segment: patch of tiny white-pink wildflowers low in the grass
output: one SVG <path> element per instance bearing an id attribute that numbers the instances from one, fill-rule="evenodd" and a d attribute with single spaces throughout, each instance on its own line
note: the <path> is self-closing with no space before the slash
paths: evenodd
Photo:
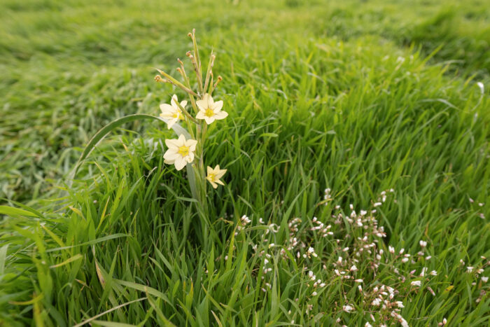
<path id="1" fill-rule="evenodd" d="M 335 285 L 341 293 L 334 307 L 335 321 L 339 325 L 349 324 L 349 316 L 357 313 L 363 314 L 365 326 L 390 326 L 393 323 L 409 326 L 402 312 L 405 301 L 412 293 L 426 291 L 435 295 L 440 283 L 435 281 L 437 271 L 429 269 L 428 248 L 431 246 L 428 240 L 417 241 L 419 251 L 414 255 L 382 241 L 386 232 L 379 225 L 377 211 L 393 194 L 393 189 L 385 190 L 369 208 L 356 210 L 349 204 L 344 211 L 339 205 L 327 205 L 335 200 L 331 190 L 327 189 L 319 202 L 325 204 L 327 200 L 322 206 L 323 212 L 318 214 L 324 218 L 291 218 L 287 224 L 288 236 L 281 244 L 276 243 L 277 225 L 267 224 L 262 218 L 255 220 L 242 216 L 235 235 L 260 231 L 252 244 L 254 256 L 260 258 L 260 268 L 256 270 L 257 286 L 263 293 L 268 293 L 279 274 L 272 261 L 293 260 L 302 276 L 301 288 L 307 297 L 304 311 L 309 318 L 313 319 L 315 307 L 317 311 L 322 310 L 322 298 L 331 293 Z M 253 228 L 253 223 L 265 228 Z M 486 264 L 467 270 L 482 274 L 484 267 Z M 486 277 L 481 278 L 482 283 L 486 280 Z M 295 316 L 291 315 L 290 319 Z"/>

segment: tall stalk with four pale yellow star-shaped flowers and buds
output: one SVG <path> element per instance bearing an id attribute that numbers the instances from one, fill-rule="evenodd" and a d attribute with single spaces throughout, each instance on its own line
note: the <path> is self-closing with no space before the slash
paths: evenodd
<path id="1" fill-rule="evenodd" d="M 165 140 L 168 149 L 163 157 L 167 165 L 174 165 L 177 170 L 188 165 L 188 172 L 197 176 L 193 195 L 197 197 L 197 200 L 203 202 L 206 195 L 205 181 L 209 181 L 213 188 L 217 188 L 218 184 L 224 185 L 221 178 L 227 170 L 216 165 L 214 168 L 208 166 L 207 171 L 204 171 L 204 142 L 207 128 L 216 120 L 225 119 L 228 113 L 223 111 L 223 100 L 215 101 L 212 97 L 216 86 L 223 79 L 218 76 L 216 82 L 214 81 L 213 67 L 216 56 L 211 51 L 207 72 L 203 76 L 195 30 L 188 36 L 193 41 L 193 50 L 188 51 L 186 55 L 193 66 L 197 90 L 193 90 L 193 85 L 190 83 L 190 78 L 181 60 L 178 60 L 180 67 L 177 68 L 177 71 L 181 74 L 183 83 L 160 69 L 157 69 L 160 75 L 155 76 L 155 81 L 175 85 L 188 95 L 188 100 L 179 102 L 177 95 L 173 95 L 170 104 L 160 104 L 162 111 L 160 118 L 167 123 L 169 129 L 174 129 L 179 135 L 178 139 Z M 183 129 L 179 123 L 186 123 L 187 130 Z M 193 188 L 192 185 L 191 188 Z"/>

